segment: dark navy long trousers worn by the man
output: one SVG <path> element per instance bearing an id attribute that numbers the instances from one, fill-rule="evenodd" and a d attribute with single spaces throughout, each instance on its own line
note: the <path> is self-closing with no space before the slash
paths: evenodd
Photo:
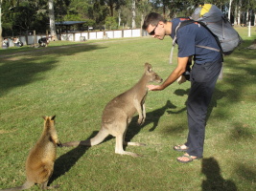
<path id="1" fill-rule="evenodd" d="M 186 146 L 191 156 L 202 158 L 205 138 L 207 109 L 218 76 L 221 73 L 221 60 L 215 63 L 195 63 L 191 71 L 191 89 L 187 101 L 189 134 Z"/>

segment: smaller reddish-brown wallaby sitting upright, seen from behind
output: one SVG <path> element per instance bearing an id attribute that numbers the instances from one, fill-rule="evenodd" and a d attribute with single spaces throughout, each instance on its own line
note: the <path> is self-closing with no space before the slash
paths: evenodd
<path id="1" fill-rule="evenodd" d="M 27 181 L 21 186 L 1 191 L 24 190 L 32 187 L 35 183 L 41 184 L 42 189 L 57 187 L 47 186 L 47 183 L 54 171 L 57 146 L 61 146 L 61 143 L 55 129 L 55 116 L 43 118 L 43 133 L 35 143 L 26 161 Z"/>

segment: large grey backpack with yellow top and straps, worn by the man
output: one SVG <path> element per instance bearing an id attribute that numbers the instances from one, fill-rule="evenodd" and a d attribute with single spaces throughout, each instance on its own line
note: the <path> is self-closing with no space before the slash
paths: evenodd
<path id="1" fill-rule="evenodd" d="M 180 22 L 175 28 L 175 38 L 173 40 L 173 48 L 170 55 L 171 64 L 175 47 L 176 32 L 181 27 L 195 22 L 203 26 L 208 32 L 212 33 L 220 47 L 220 50 L 196 45 L 198 47 L 221 52 L 223 55 L 228 55 L 243 42 L 243 39 L 239 33 L 233 29 L 224 13 L 215 5 L 202 4 L 194 11 L 190 18 L 183 18 L 182 20 L 184 21 Z"/>

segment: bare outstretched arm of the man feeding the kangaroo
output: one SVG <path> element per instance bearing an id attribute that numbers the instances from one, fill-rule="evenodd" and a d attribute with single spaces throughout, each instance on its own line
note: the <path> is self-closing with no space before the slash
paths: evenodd
<path id="1" fill-rule="evenodd" d="M 186 71 L 186 66 L 188 63 L 189 57 L 178 57 L 177 58 L 177 67 L 172 74 L 161 84 L 161 85 L 148 85 L 149 90 L 151 91 L 161 91 L 166 87 L 175 82 L 175 80 Z"/>

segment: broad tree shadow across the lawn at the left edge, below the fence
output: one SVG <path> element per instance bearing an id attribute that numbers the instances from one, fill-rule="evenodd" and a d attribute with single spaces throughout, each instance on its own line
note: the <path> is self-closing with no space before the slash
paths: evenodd
<path id="1" fill-rule="evenodd" d="M 97 45 L 78 46 L 70 49 L 44 49 L 43 53 L 38 50 L 26 52 L 26 56 L 13 55 L 9 57 L 0 56 L 0 96 L 4 96 L 13 88 L 21 87 L 34 81 L 42 80 L 36 74 L 46 73 L 56 68 L 58 57 L 75 53 L 89 52 L 96 49 L 104 49 Z M 43 75 L 42 75 L 43 76 Z"/>

